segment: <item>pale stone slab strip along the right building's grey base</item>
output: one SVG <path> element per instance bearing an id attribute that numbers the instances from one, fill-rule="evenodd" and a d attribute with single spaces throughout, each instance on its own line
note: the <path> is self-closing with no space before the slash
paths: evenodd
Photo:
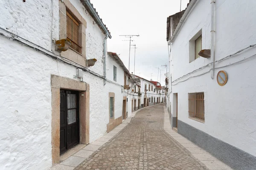
<path id="1" fill-rule="evenodd" d="M 212 156 L 210 153 L 208 153 L 201 147 L 198 147 L 196 144 L 194 144 L 193 142 L 189 141 L 188 139 L 177 133 L 175 128 L 174 130 L 172 130 L 169 120 L 169 113 L 167 112 L 166 107 L 164 107 L 164 117 L 165 119 L 163 129 L 170 136 L 172 136 L 173 139 L 175 139 L 183 147 L 189 150 L 191 155 L 194 156 L 199 161 L 201 161 L 209 170 L 233 170 L 231 167 L 219 161 L 217 158 Z"/>

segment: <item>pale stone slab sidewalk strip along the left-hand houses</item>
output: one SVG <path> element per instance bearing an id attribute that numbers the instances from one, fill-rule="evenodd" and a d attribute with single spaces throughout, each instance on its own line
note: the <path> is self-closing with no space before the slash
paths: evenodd
<path id="1" fill-rule="evenodd" d="M 116 136 L 123 128 L 125 128 L 128 123 L 131 122 L 132 117 L 128 117 L 122 124 L 116 126 L 109 133 L 105 134 L 101 138 L 90 144 L 78 144 L 73 147 L 60 157 L 60 163 L 54 165 L 48 170 L 74 170 L 79 164 L 81 164 L 85 159 L 89 158 L 95 151 L 99 150 L 104 144 L 109 142 Z"/>

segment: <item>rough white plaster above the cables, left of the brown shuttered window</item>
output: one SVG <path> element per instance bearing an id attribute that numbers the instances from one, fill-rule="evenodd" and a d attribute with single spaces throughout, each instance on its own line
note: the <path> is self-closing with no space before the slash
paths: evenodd
<path id="1" fill-rule="evenodd" d="M 58 0 L 53 0 L 53 4 L 52 0 L 26 1 L 25 3 L 22 0 L 1 0 L 0 16 L 1 28 L 47 50 L 51 50 L 51 36 L 53 39 L 58 37 L 58 25 L 55 25 L 55 21 L 58 22 Z M 52 30 L 55 31 L 52 32 Z"/>

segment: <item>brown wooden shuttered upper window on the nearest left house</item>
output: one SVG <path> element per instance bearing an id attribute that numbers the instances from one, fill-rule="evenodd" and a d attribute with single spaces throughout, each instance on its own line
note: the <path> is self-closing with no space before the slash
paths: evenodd
<path id="1" fill-rule="evenodd" d="M 67 38 L 71 41 L 70 48 L 81 54 L 79 45 L 79 23 L 67 12 Z"/>

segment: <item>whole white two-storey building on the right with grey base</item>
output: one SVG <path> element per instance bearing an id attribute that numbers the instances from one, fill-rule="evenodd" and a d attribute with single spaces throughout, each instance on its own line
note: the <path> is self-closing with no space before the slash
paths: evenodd
<path id="1" fill-rule="evenodd" d="M 234 170 L 256 170 L 255 7 L 190 0 L 167 19 L 172 126 Z"/>

